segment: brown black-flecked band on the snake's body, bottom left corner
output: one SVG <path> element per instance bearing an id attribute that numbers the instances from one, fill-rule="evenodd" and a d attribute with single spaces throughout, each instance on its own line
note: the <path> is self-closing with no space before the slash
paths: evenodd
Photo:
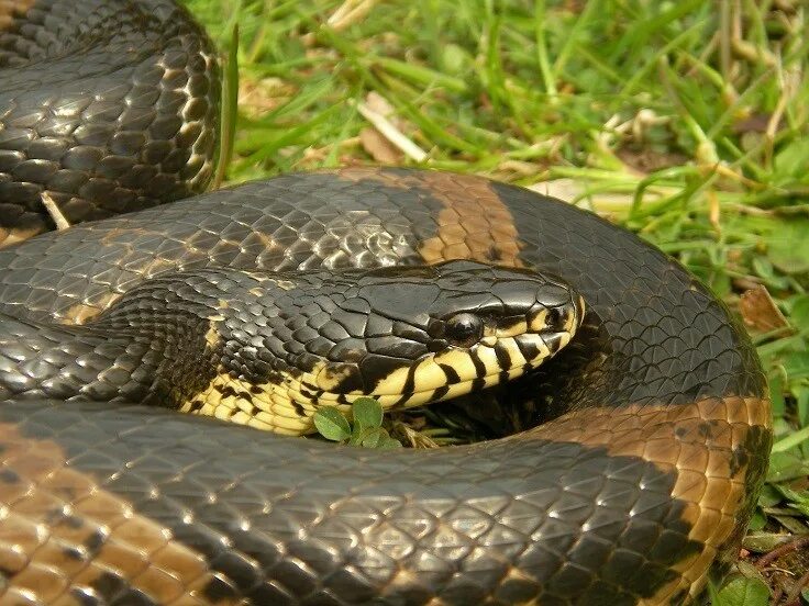
<path id="1" fill-rule="evenodd" d="M 55 441 L 3 423 L 0 450 L 0 603 L 236 603 L 200 553 L 71 468 Z"/>

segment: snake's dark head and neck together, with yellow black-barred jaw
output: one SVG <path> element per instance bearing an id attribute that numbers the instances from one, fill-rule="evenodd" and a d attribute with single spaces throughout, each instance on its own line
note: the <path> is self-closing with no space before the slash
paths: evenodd
<path id="1" fill-rule="evenodd" d="M 323 404 L 365 395 L 402 408 L 520 377 L 565 347 L 581 315 L 580 298 L 553 277 L 464 260 L 178 271 L 84 325 L 0 317 L 0 334 L 19 343 L 0 338 L 0 389 L 5 399 L 136 401 L 297 435 L 313 430 Z"/>

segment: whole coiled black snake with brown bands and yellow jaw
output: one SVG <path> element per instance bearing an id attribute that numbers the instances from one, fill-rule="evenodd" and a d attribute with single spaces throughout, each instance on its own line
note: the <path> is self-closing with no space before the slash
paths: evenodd
<path id="1" fill-rule="evenodd" d="M 171 0 L 0 0 L 0 603 L 685 604 L 735 561 L 765 375 L 657 248 L 433 170 L 202 193 L 219 67 Z M 263 430 L 481 389 L 543 423 Z"/>

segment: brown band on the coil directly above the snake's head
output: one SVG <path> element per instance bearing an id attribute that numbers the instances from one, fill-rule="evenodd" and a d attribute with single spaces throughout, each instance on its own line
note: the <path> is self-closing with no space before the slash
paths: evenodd
<path id="1" fill-rule="evenodd" d="M 479 177 L 458 178 L 452 172 L 379 171 L 376 168 L 346 168 L 341 179 L 378 181 L 386 187 L 425 191 L 444 207 L 437 213 L 437 233 L 419 246 L 428 263 L 447 259 L 474 259 L 506 267 L 523 267 L 520 238 L 509 209 L 492 191 L 491 181 Z"/>

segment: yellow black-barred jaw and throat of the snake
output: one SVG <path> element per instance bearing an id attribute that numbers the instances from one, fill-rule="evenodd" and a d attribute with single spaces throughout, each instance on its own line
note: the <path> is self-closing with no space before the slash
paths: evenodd
<path id="1" fill-rule="evenodd" d="M 363 396 L 376 399 L 386 409 L 450 400 L 538 368 L 569 343 L 581 314 L 580 298 L 570 294 L 563 304 L 534 304 L 522 316 L 489 319 L 477 343 L 462 347 L 444 341 L 437 351 L 400 360 L 369 389 L 357 389 L 363 385 L 358 364 L 329 360 L 319 360 L 306 371 L 280 371 L 258 384 L 220 373 L 197 397 L 204 402 L 198 412 L 300 435 L 314 431 L 313 416 L 322 405 L 348 413 L 351 403 Z"/>

